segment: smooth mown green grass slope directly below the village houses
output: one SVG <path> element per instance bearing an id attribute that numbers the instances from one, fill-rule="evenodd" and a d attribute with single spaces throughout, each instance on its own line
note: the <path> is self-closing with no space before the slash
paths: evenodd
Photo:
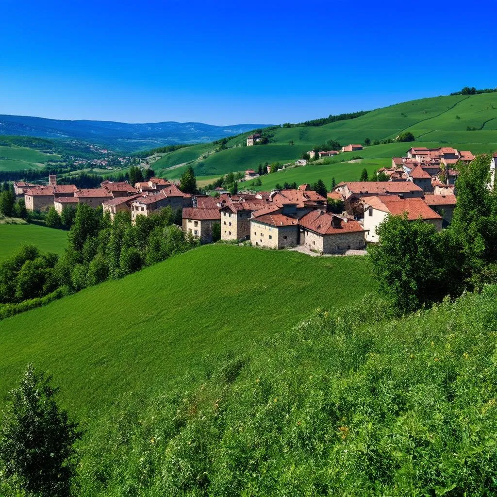
<path id="1" fill-rule="evenodd" d="M 362 257 L 197 248 L 2 321 L 0 399 L 33 362 L 72 413 L 91 418 L 124 392 L 161 393 L 205 360 L 374 289 Z"/>

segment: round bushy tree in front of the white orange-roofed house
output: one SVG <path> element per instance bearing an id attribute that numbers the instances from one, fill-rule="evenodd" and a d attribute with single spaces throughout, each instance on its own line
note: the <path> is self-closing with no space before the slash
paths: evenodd
<path id="1" fill-rule="evenodd" d="M 434 225 L 388 215 L 377 234 L 379 243 L 368 250 L 373 273 L 401 314 L 431 305 L 454 288 L 459 278 L 445 263 L 457 255 Z"/>

